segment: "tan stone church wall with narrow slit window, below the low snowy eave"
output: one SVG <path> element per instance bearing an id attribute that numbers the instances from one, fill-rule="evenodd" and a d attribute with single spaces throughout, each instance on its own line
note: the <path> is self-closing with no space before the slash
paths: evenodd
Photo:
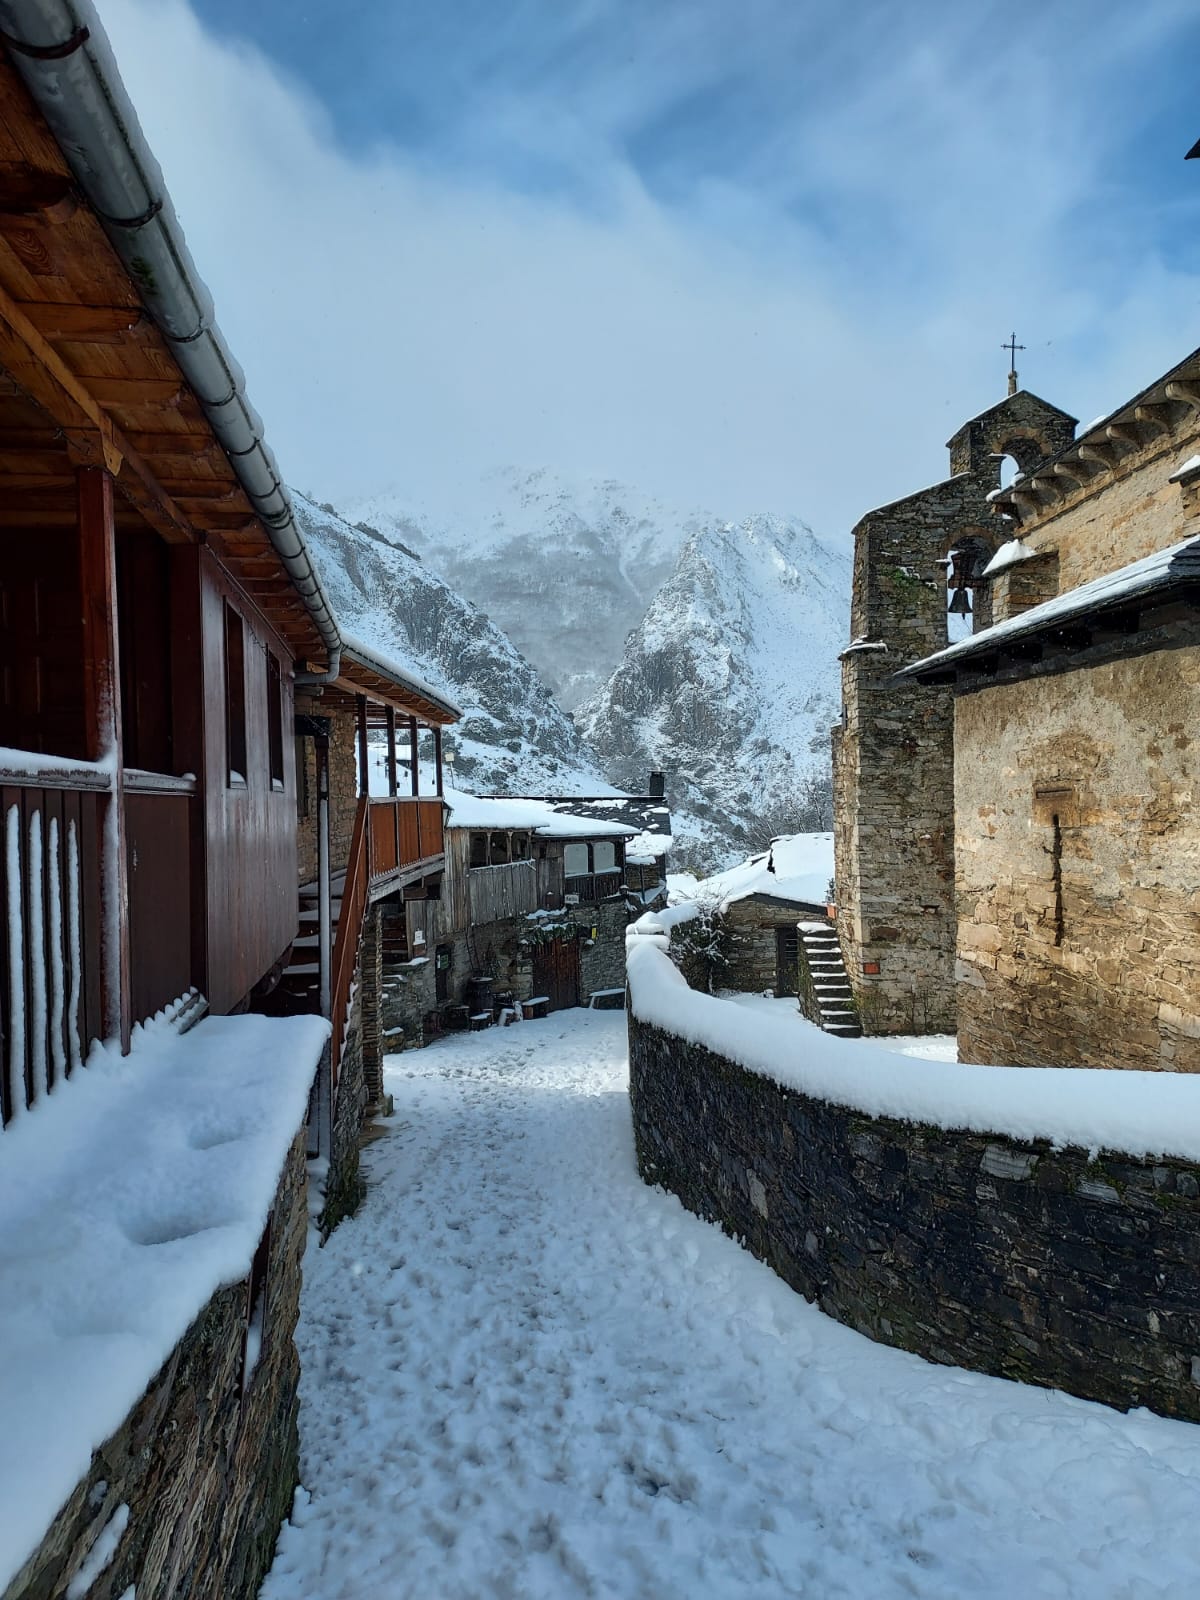
<path id="1" fill-rule="evenodd" d="M 1200 646 L 958 698 L 963 1061 L 1200 1070 L 1197 726 Z"/>

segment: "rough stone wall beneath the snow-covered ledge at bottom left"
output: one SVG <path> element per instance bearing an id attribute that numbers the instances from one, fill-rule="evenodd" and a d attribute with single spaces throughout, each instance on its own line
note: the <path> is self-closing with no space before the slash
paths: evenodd
<path id="1" fill-rule="evenodd" d="M 275 1195 L 262 1352 L 243 1392 L 246 1283 L 219 1290 L 3 1600 L 61 1600 L 122 1506 L 130 1522 L 86 1600 L 253 1600 L 298 1472 L 293 1342 L 307 1234 L 304 1138 Z"/>

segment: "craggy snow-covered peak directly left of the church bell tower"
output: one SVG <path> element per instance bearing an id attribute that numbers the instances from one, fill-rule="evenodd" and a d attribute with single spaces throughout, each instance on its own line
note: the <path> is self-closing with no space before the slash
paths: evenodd
<path id="1" fill-rule="evenodd" d="M 827 781 L 850 555 L 795 520 L 696 531 L 576 712 L 606 774 L 667 774 L 672 866 L 720 866 L 771 834 L 827 826 L 802 811 Z"/>

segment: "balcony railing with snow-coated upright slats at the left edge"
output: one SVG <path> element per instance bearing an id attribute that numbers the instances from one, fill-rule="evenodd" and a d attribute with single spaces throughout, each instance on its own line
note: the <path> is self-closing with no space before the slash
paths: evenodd
<path id="1" fill-rule="evenodd" d="M 69 786 L 67 786 L 69 784 Z M 0 779 L 0 1120 L 104 1032 L 101 837 L 107 778 Z"/>

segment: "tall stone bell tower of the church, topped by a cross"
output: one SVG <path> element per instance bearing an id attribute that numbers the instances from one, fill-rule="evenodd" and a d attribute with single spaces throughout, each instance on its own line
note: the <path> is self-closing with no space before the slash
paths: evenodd
<path id="1" fill-rule="evenodd" d="M 954 702 L 896 682 L 947 643 L 947 560 L 990 622 L 981 576 L 1005 531 L 1000 462 L 1054 454 L 1075 419 L 1016 390 L 949 442 L 950 477 L 854 528 L 851 643 L 834 730 L 838 938 L 867 1032 L 954 1032 Z"/>

